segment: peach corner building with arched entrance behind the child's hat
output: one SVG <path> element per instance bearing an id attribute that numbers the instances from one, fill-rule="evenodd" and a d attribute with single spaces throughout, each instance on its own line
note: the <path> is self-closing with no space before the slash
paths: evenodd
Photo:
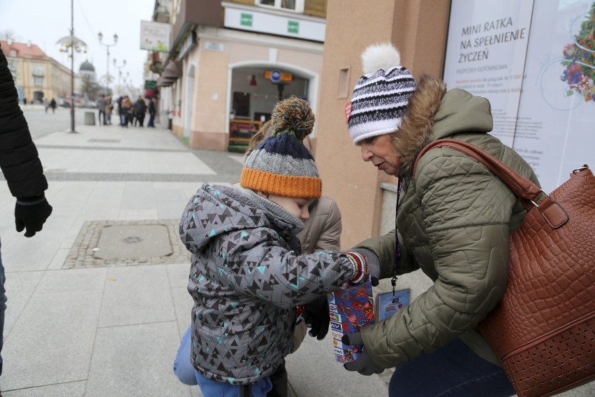
<path id="1" fill-rule="evenodd" d="M 157 80 L 160 109 L 191 147 L 243 147 L 287 96 L 307 99 L 316 112 L 326 1 L 175 0 L 168 6 L 172 34 Z"/>

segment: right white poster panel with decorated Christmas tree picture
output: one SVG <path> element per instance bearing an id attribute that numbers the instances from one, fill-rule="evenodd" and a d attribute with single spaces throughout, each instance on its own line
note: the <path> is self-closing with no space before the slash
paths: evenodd
<path id="1" fill-rule="evenodd" d="M 595 1 L 536 1 L 513 147 L 551 192 L 595 167 Z"/>

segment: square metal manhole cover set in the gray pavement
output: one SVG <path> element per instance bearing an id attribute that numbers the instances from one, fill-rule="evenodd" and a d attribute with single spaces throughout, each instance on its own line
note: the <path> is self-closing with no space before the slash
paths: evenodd
<path id="1" fill-rule="evenodd" d="M 172 254 L 168 228 L 162 224 L 107 226 L 93 256 L 99 259 L 164 257 Z"/>

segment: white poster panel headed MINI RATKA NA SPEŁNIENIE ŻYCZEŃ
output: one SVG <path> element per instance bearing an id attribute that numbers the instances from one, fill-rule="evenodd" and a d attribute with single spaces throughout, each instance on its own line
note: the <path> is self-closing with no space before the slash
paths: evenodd
<path id="1" fill-rule="evenodd" d="M 492 135 L 513 145 L 533 1 L 453 1 L 444 81 L 485 96 Z"/>

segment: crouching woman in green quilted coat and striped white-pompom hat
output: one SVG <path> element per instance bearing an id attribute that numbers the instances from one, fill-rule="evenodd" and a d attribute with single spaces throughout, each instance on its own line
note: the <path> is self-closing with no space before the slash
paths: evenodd
<path id="1" fill-rule="evenodd" d="M 526 178 L 534 171 L 492 131 L 490 102 L 436 78 L 417 82 L 390 44 L 362 54 L 364 75 L 346 106 L 362 159 L 399 178 L 395 230 L 370 238 L 365 252 L 381 278 L 421 269 L 434 284 L 409 307 L 344 338 L 363 343 L 346 363 L 363 375 L 395 368 L 390 396 L 510 396 L 515 391 L 476 326 L 501 301 L 508 235 L 526 211 L 504 182 L 448 147 L 420 151 L 439 138 L 464 140 Z"/>

